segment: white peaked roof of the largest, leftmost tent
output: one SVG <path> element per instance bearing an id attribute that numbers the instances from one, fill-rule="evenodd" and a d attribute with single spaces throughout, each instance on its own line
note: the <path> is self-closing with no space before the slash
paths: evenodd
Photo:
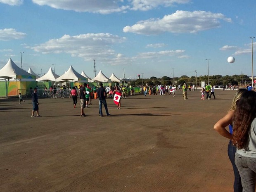
<path id="1" fill-rule="evenodd" d="M 19 68 L 10 58 L 7 64 L 0 69 L 0 77 L 5 79 L 19 78 L 19 79 L 35 79 L 35 76 Z"/>

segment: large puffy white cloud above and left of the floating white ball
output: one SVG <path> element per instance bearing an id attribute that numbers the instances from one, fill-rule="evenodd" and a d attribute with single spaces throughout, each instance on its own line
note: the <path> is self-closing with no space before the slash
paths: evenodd
<path id="1" fill-rule="evenodd" d="M 159 33 L 197 33 L 220 27 L 220 20 L 231 22 L 230 18 L 220 13 L 205 11 L 176 11 L 165 15 L 162 19 L 149 19 L 139 21 L 133 26 L 123 28 L 125 33 L 138 33 L 143 35 L 156 35 Z"/>

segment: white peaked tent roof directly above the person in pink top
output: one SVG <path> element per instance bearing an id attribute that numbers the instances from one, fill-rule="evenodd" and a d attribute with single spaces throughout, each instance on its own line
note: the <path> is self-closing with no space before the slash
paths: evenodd
<path id="1" fill-rule="evenodd" d="M 56 81 L 85 81 L 87 82 L 87 78 L 79 74 L 73 69 L 72 66 L 69 67 L 68 71 L 64 73 L 62 76 L 56 79 Z"/>

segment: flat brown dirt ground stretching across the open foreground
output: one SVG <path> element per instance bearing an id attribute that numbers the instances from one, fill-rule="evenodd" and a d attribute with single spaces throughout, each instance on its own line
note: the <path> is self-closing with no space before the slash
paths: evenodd
<path id="1" fill-rule="evenodd" d="M 213 125 L 235 91 L 215 93 L 108 99 L 108 117 L 98 100 L 81 117 L 69 98 L 40 99 L 33 118 L 31 100 L 2 99 L 0 191 L 232 192 L 229 140 Z"/>

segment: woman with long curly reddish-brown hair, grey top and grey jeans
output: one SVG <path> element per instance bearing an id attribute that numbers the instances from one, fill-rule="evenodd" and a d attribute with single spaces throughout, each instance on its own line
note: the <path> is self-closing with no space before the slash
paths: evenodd
<path id="1" fill-rule="evenodd" d="M 232 142 L 237 146 L 235 164 L 239 170 L 243 192 L 256 187 L 256 92 L 244 92 L 233 115 Z"/>

